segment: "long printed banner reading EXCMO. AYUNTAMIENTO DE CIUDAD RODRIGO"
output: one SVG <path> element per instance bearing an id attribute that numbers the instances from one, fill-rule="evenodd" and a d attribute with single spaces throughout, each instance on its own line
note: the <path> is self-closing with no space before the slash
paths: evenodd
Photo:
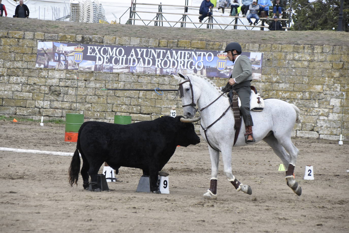
<path id="1" fill-rule="evenodd" d="M 243 52 L 252 62 L 254 79 L 262 73 L 262 53 Z M 223 51 L 136 46 L 38 42 L 36 67 L 64 70 L 188 74 L 229 78 L 234 63 Z"/>

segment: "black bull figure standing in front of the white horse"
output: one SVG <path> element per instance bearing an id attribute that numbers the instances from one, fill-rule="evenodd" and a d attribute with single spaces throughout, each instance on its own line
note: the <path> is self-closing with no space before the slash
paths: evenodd
<path id="1" fill-rule="evenodd" d="M 150 190 L 157 188 L 158 173 L 170 160 L 177 145 L 200 143 L 193 123 L 183 123 L 181 116 L 164 116 L 153 121 L 128 125 L 89 121 L 81 125 L 76 150 L 70 163 L 69 182 L 77 185 L 82 158 L 81 176 L 84 189 L 99 191 L 97 173 L 104 162 L 116 170 L 123 167 L 140 168 L 150 176 Z"/>

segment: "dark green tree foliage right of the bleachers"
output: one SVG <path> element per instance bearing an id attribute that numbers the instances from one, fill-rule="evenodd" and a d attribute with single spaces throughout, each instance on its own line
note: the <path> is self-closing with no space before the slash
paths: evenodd
<path id="1" fill-rule="evenodd" d="M 291 30 L 337 30 L 340 0 L 295 0 Z M 343 0 L 343 31 L 348 31 L 349 1 Z"/>

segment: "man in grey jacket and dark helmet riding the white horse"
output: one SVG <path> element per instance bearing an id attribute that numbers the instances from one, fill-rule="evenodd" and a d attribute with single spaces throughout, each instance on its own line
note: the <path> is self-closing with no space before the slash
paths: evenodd
<path id="1" fill-rule="evenodd" d="M 225 85 L 225 87 L 222 87 L 222 91 L 230 91 L 228 95 L 231 97 L 233 90 L 237 92 L 241 101 L 241 115 L 245 122 L 246 143 L 251 143 L 255 141 L 253 138 L 253 121 L 250 112 L 252 63 L 247 56 L 241 55 L 241 45 L 237 42 L 229 43 L 225 47 L 224 52 L 227 53 L 228 59 L 235 62 L 235 64 L 228 83 Z"/>

